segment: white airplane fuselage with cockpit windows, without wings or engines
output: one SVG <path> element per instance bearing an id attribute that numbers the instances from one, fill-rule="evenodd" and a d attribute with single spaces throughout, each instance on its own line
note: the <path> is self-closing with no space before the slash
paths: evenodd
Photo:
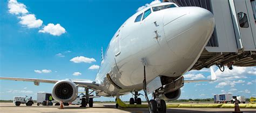
<path id="1" fill-rule="evenodd" d="M 112 37 L 96 80 L 98 95 L 115 96 L 143 89 L 158 76 L 180 77 L 196 63 L 214 29 L 210 11 L 159 3 L 138 11 Z M 109 75 L 109 78 L 107 77 Z"/>

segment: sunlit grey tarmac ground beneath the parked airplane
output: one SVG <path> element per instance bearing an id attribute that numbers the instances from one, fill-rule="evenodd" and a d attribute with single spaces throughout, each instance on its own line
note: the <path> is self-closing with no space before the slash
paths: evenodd
<path id="1" fill-rule="evenodd" d="M 256 109 L 240 108 L 243 112 L 256 112 Z M 233 108 L 167 108 L 167 112 L 232 112 Z M 25 104 L 16 107 L 14 103 L 0 103 L 0 112 L 148 112 L 147 108 L 115 108 L 114 103 L 93 103 L 93 107 L 82 108 L 79 105 L 64 106 L 33 106 L 27 107 Z"/>

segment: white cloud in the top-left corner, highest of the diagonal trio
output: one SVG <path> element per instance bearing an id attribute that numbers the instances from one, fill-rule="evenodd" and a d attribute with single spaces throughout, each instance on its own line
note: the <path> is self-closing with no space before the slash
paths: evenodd
<path id="1" fill-rule="evenodd" d="M 16 0 L 10 0 L 8 2 L 8 8 L 11 14 L 26 14 L 29 12 L 26 10 L 26 5 L 18 3 Z"/>

